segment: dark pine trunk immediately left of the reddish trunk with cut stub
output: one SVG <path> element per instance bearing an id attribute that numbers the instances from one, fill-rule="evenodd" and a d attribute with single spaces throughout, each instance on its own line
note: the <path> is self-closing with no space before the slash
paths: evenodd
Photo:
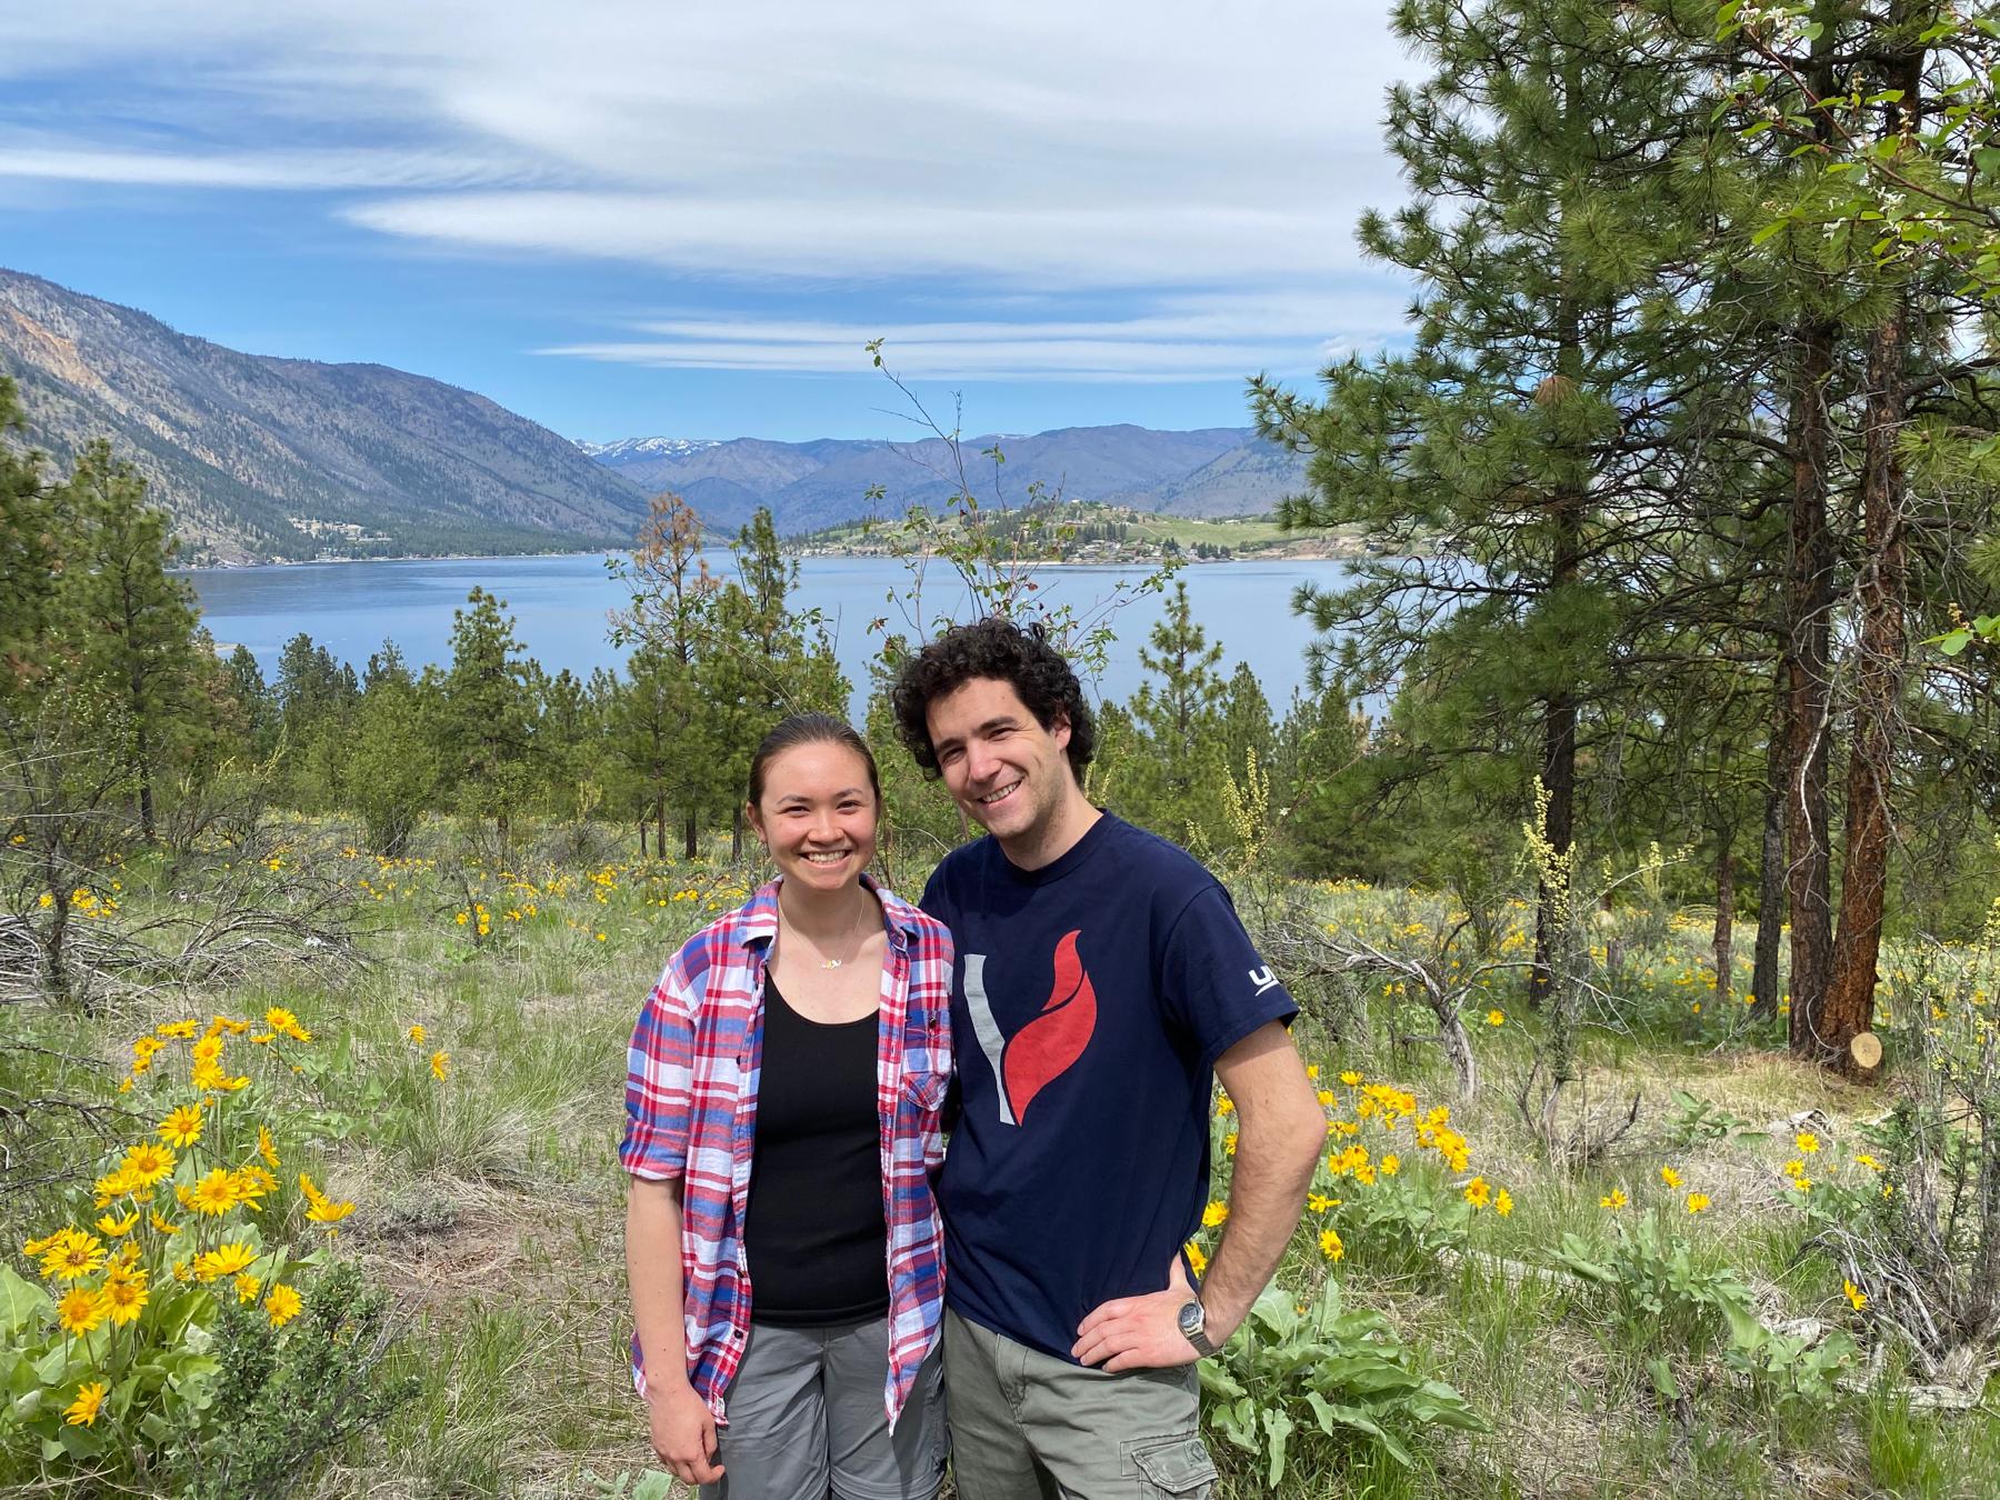
<path id="1" fill-rule="evenodd" d="M 1826 998 L 1834 954 L 1826 812 L 1828 656 L 1834 606 L 1834 538 L 1826 522 L 1832 324 L 1798 332 L 1792 396 L 1792 552 L 1786 570 L 1786 902 L 1792 916 L 1792 1052 L 1814 1056 L 1808 1016 Z"/>

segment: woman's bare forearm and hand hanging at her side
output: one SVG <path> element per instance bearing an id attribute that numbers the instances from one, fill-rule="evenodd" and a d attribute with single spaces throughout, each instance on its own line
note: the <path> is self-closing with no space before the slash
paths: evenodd
<path id="1" fill-rule="evenodd" d="M 714 1462 L 716 1418 L 688 1384 L 678 1178 L 632 1178 L 626 1198 L 626 1280 L 646 1366 L 652 1450 L 674 1478 L 710 1484 L 722 1478 L 722 1464 Z"/>

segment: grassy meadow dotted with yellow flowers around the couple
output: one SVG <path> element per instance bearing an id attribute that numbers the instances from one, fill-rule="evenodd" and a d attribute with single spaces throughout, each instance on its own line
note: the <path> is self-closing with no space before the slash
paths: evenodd
<path id="1" fill-rule="evenodd" d="M 14 1040 L 34 1048 L 18 1056 L 10 1088 L 68 1102 L 6 1122 L 10 1162 L 36 1168 L 12 1178 L 20 1186 L 0 1202 L 8 1266 L 34 1282 L 20 1246 L 84 1224 L 92 1176 L 128 1142 L 150 1138 L 182 1098 L 190 1056 L 180 1040 L 166 1036 L 136 1076 L 134 1040 L 186 1020 L 244 1020 L 242 1040 L 218 1032 L 224 1058 L 254 1052 L 262 1072 L 244 1064 L 256 1082 L 242 1106 L 216 1104 L 216 1120 L 254 1100 L 284 1152 L 278 1176 L 304 1168 L 320 1194 L 306 1202 L 354 1204 L 352 1214 L 316 1220 L 304 1204 L 282 1210 L 274 1198 L 260 1232 L 272 1242 L 284 1230 L 300 1254 L 358 1258 L 392 1292 L 400 1318 L 382 1376 L 418 1380 L 412 1400 L 340 1444 L 298 1492 L 668 1494 L 664 1480 L 646 1478 L 646 1426 L 626 1376 L 614 1162 L 624 1046 L 666 954 L 740 900 L 756 872 L 728 868 L 722 850 L 708 864 L 632 864 L 588 850 L 520 856 L 506 870 L 378 860 L 342 844 L 340 828 L 286 832 L 256 854 L 260 868 L 338 884 L 364 962 L 332 962 L 336 944 L 308 940 L 274 946 L 268 962 L 222 986 L 124 986 L 88 1008 L 8 1008 Z M 432 832 L 442 854 L 446 836 Z M 134 862 L 116 890 L 70 900 L 88 898 L 86 932 L 92 920 L 138 924 L 174 908 L 176 878 Z M 920 878 L 904 874 L 902 886 L 916 890 Z M 1396 952 L 1436 948 L 1462 916 L 1442 896 L 1354 884 L 1282 896 L 1294 926 L 1308 912 L 1320 930 L 1362 932 Z M 106 904 L 110 914 L 88 914 Z M 1254 894 L 1244 910 L 1252 924 L 1264 920 Z M 1498 952 L 1518 956 L 1530 922 L 1522 906 L 1502 910 Z M 1972 1410 L 1912 1394 L 1868 1292 L 1834 1254 L 1808 1244 L 1814 1194 L 1858 1200 L 1886 1186 L 1868 1130 L 1906 1066 L 1894 1018 L 1878 1086 L 1794 1064 L 1776 1028 L 1760 1032 L 1750 1020 L 1740 992 L 1716 998 L 1708 936 L 1706 916 L 1646 914 L 1620 952 L 1618 1018 L 1602 1016 L 1580 1042 L 1582 1108 L 1626 1118 L 1636 1098 L 1636 1122 L 1594 1160 L 1558 1168 L 1516 1102 L 1532 1084 L 1542 1022 L 1522 1006 L 1514 970 L 1470 982 L 1464 1016 L 1480 1086 L 1462 1100 L 1426 1040 L 1428 1016 L 1396 978 L 1312 970 L 1298 958 L 1310 934 L 1290 932 L 1300 972 L 1286 978 L 1306 1004 L 1298 1040 L 1324 1090 L 1328 1164 L 1258 1326 L 1258 1350 L 1240 1352 L 1250 1440 L 1232 1442 L 1220 1426 L 1208 1434 L 1222 1494 L 2000 1488 L 1992 1392 Z M 1744 930 L 1744 962 L 1748 950 Z M 1734 988 L 1744 984 L 1738 976 Z M 1890 994 L 1894 1008 L 1894 986 Z M 258 1028 L 274 1010 L 310 1042 L 280 1026 L 258 1052 L 270 1038 Z M 1212 1250 L 1222 1232 L 1234 1150 L 1226 1100 L 1214 1142 L 1218 1202 L 1196 1250 Z M 192 1214 L 190 1232 L 186 1222 Z M 1574 1236 L 1568 1246 L 1564 1236 Z M 1616 1258 L 1612 1246 L 1644 1236 L 1658 1256 Z M 1644 1276 L 1658 1282 L 1634 1290 Z M 1328 1282 L 1338 1310 L 1322 1300 Z M 1730 1298 L 1802 1348 L 1772 1354 L 1732 1342 L 1716 1314 Z M 1280 1324 L 1294 1320 L 1286 1344 Z M 1810 1350 L 1838 1350 L 1842 1340 L 1852 1340 L 1852 1356 L 1838 1368 L 1804 1368 Z M 1282 1348 L 1298 1358 L 1280 1360 Z M 1322 1428 L 1298 1382 L 1336 1366 L 1354 1374 Z M 16 1368 L 10 1400 L 28 1384 L 32 1374 Z M 116 1420 L 106 1408 L 88 1432 Z M 62 1478 L 72 1470 L 60 1464 L 44 1470 L 20 1428 L 0 1434 L 6 1492 L 92 1492 Z M 1272 1462 L 1274 1438 L 1282 1464 Z M 152 1490 L 140 1474 L 96 1492 Z"/>

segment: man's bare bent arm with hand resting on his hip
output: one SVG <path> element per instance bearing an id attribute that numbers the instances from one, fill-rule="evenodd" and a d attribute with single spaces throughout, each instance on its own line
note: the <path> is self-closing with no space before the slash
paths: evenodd
<path id="1" fill-rule="evenodd" d="M 1206 1334 L 1220 1348 L 1250 1314 L 1298 1228 L 1326 1144 L 1326 1114 L 1280 1022 L 1256 1028 L 1224 1052 L 1216 1076 L 1240 1118 L 1228 1228 L 1202 1282 Z M 1176 1322 L 1190 1296 L 1176 1254 L 1164 1292 L 1102 1304 L 1078 1324 L 1070 1352 L 1106 1370 L 1192 1364 L 1200 1356 Z"/>

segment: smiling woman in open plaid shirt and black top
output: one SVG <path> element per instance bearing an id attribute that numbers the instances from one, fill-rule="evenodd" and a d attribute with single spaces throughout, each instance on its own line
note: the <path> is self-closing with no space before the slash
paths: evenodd
<path id="1" fill-rule="evenodd" d="M 746 814 L 778 878 L 674 954 L 632 1034 L 634 1380 L 704 1500 L 942 1480 L 952 940 L 868 878 L 880 808 L 840 720 L 764 736 Z"/>

